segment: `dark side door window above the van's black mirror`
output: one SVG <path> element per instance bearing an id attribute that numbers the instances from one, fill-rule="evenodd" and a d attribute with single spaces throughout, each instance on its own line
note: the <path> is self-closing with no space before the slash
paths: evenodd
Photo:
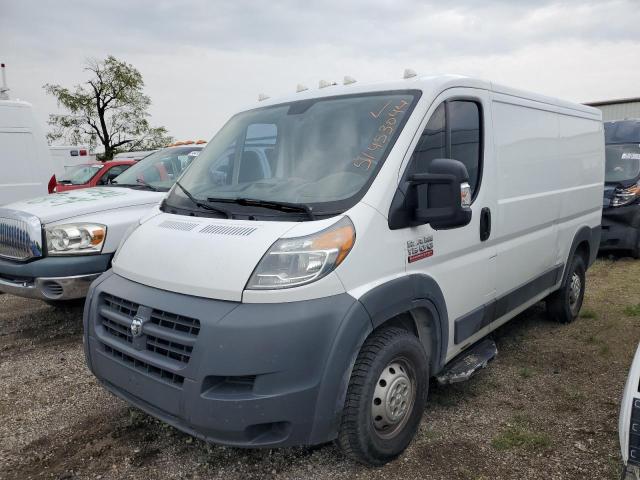
<path id="1" fill-rule="evenodd" d="M 480 181 L 482 151 L 480 107 L 470 100 L 442 102 L 422 132 L 410 163 L 411 173 L 425 173 L 436 158 L 453 158 L 469 172 L 471 193 Z"/>

